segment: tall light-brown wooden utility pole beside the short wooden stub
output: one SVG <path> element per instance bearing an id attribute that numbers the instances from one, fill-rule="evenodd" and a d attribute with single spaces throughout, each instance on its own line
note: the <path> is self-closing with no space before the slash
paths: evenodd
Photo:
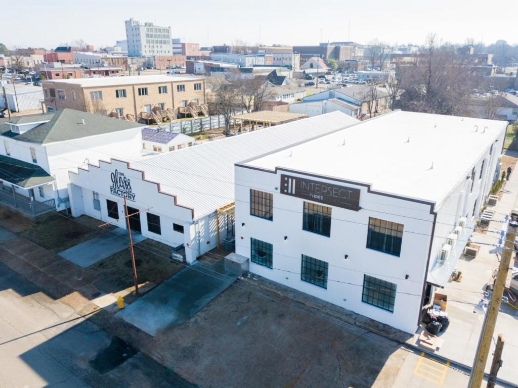
<path id="1" fill-rule="evenodd" d="M 507 227 L 506 242 L 502 249 L 502 256 L 500 258 L 500 265 L 498 266 L 498 274 L 496 275 L 491 302 L 487 308 L 484 325 L 482 327 L 482 331 L 480 332 L 477 353 L 475 354 L 475 358 L 473 360 L 473 368 L 471 369 L 471 376 L 469 378 L 469 388 L 480 388 L 484 378 L 484 369 L 491 348 L 493 334 L 495 332 L 498 311 L 500 310 L 500 305 L 502 304 L 503 290 L 505 288 L 507 274 L 509 272 L 511 255 L 512 252 L 514 252 L 516 227 L 518 227 L 518 222 L 511 218 Z"/>

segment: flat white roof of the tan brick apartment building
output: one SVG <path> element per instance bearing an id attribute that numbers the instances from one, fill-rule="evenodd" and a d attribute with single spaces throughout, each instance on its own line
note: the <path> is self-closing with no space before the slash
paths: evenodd
<path id="1" fill-rule="evenodd" d="M 99 67 L 103 69 L 103 67 Z M 92 70 L 97 70 L 93 67 Z M 131 76 L 131 77 L 99 77 L 99 78 L 71 78 L 68 80 L 45 80 L 45 82 L 59 82 L 69 83 L 74 85 L 81 85 L 83 87 L 99 87 L 99 86 L 117 86 L 117 85 L 137 85 L 146 83 L 160 83 L 160 82 L 182 82 L 182 81 L 196 81 L 203 80 L 202 77 L 183 77 L 183 76 L 170 76 L 164 75 L 152 75 L 152 76 Z"/>

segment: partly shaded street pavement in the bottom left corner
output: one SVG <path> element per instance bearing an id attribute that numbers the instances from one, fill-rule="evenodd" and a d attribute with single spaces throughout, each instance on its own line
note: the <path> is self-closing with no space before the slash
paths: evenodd
<path id="1" fill-rule="evenodd" d="M 194 387 L 2 264 L 0 311 L 0 387 Z"/>

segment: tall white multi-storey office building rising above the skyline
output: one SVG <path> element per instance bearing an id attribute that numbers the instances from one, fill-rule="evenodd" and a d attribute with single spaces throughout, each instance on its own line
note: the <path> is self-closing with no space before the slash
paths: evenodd
<path id="1" fill-rule="evenodd" d="M 171 27 L 125 21 L 128 56 L 172 55 Z"/>

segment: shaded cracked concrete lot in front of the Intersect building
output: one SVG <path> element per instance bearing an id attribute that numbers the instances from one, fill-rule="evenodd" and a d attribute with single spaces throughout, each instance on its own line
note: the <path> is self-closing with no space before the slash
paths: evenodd
<path id="1" fill-rule="evenodd" d="M 204 387 L 393 385 L 408 355 L 396 342 L 237 285 L 141 346 Z"/>

